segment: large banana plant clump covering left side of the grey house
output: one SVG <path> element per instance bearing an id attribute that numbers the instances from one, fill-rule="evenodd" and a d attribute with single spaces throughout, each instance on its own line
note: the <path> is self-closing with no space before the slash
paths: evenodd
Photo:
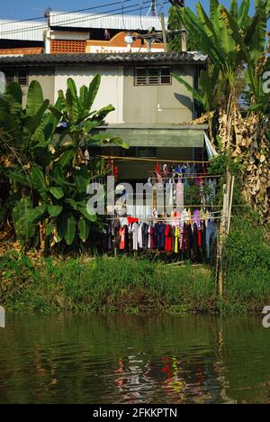
<path id="1" fill-rule="evenodd" d="M 18 84 L 6 87 L 0 98 L 1 151 L 9 151 L 14 161 L 2 171 L 19 201 L 13 221 L 25 247 L 41 244 L 37 237 L 41 229 L 48 248 L 67 245 L 81 250 L 94 224 L 99 229 L 97 217 L 86 208 L 86 188 L 102 166 L 98 161 L 85 162 L 83 151 L 111 142 L 127 147 L 119 138 L 92 134 L 114 110 L 112 105 L 91 110 L 100 82 L 100 75 L 96 75 L 78 95 L 75 82 L 69 78 L 66 94 L 59 91 L 54 106 L 44 100 L 37 81 L 31 82 L 25 109 Z"/>

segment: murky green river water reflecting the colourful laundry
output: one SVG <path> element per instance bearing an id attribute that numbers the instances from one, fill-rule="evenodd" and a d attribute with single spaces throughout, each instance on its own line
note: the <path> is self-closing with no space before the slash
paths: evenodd
<path id="1" fill-rule="evenodd" d="M 10 316 L 0 403 L 270 403 L 257 318 Z"/>

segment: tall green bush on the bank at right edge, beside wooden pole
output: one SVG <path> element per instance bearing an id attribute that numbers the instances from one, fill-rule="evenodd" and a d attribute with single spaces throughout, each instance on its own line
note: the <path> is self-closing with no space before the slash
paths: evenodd
<path id="1" fill-rule="evenodd" d="M 270 244 L 254 212 L 234 216 L 224 251 L 226 298 L 221 308 L 261 311 L 270 298 Z"/>

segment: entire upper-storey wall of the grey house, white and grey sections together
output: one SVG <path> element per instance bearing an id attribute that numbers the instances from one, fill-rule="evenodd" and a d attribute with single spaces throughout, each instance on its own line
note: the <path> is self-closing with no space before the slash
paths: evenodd
<path id="1" fill-rule="evenodd" d="M 173 72 L 193 84 L 194 66 L 173 66 Z M 67 78 L 73 78 L 79 89 L 88 86 L 96 73 L 102 75 L 102 82 L 93 110 L 112 104 L 115 111 L 106 118 L 109 124 L 179 124 L 194 117 L 193 98 L 183 85 L 173 78 L 172 85 L 136 87 L 134 66 L 32 68 L 29 82 L 38 80 L 44 98 L 55 103 L 58 90 L 67 89 Z M 27 87 L 23 87 L 23 94 L 25 102 Z"/>

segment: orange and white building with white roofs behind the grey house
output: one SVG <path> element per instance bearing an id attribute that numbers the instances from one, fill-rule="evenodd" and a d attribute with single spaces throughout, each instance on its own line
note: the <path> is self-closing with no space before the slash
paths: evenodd
<path id="1" fill-rule="evenodd" d="M 49 10 L 42 21 L 2 20 L 0 55 L 164 51 L 159 17 L 143 15 L 145 7 L 138 15 L 122 14 L 118 9 L 116 14 Z"/>

